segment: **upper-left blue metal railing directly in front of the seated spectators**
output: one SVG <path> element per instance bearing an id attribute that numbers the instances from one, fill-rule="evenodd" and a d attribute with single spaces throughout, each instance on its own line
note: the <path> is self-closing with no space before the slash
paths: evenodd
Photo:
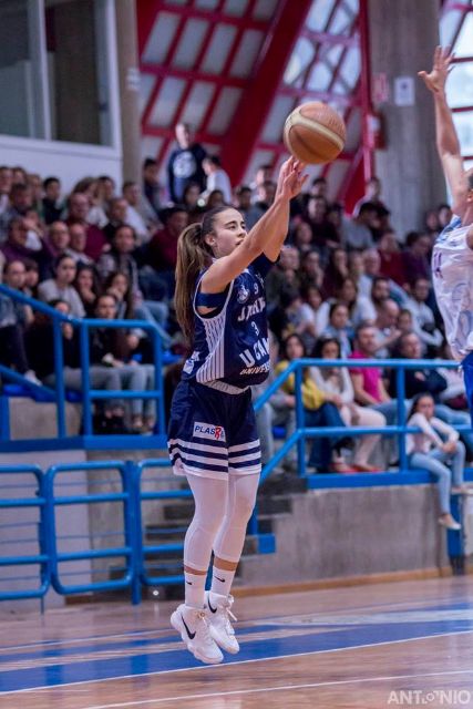
<path id="1" fill-rule="evenodd" d="M 28 379 L 14 372 L 13 370 L 0 364 L 0 374 L 8 381 L 16 382 L 27 388 L 32 394 L 38 393 L 49 400 L 55 401 L 56 407 L 56 425 L 58 438 L 62 441 L 68 439 L 66 423 L 65 423 L 65 383 L 64 383 L 64 357 L 63 357 L 63 342 L 61 326 L 64 322 L 72 325 L 79 329 L 79 342 L 80 342 L 80 360 L 81 360 L 81 376 L 82 376 L 82 428 L 83 433 L 86 436 L 93 435 L 92 427 L 92 403 L 96 400 L 103 399 L 155 399 L 157 405 L 157 435 L 164 435 L 165 433 L 165 414 L 164 414 L 164 382 L 162 376 L 163 369 L 163 348 L 158 329 L 153 322 L 145 320 L 101 320 L 101 319 L 79 319 L 71 316 L 65 316 L 59 310 L 51 308 L 50 306 L 30 298 L 19 290 L 9 288 L 0 284 L 0 294 L 10 297 L 16 302 L 30 306 L 33 310 L 38 310 L 43 315 L 49 316 L 52 321 L 53 328 L 53 348 L 54 348 L 54 389 L 45 386 L 38 386 L 30 382 Z M 154 356 L 154 371 L 155 381 L 154 389 L 150 391 L 106 391 L 91 389 L 90 384 L 90 330 L 96 328 L 113 328 L 113 329 L 130 329 L 140 328 L 148 333 L 153 345 Z M 9 421 L 8 421 L 8 405 L 2 402 L 1 414 L 2 422 L 0 427 L 1 439 L 8 440 L 9 438 Z"/>

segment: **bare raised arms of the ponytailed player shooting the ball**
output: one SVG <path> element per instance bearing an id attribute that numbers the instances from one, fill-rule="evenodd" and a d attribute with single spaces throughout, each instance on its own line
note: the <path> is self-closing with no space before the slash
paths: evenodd
<path id="1" fill-rule="evenodd" d="M 203 292 L 222 292 L 260 254 L 270 260 L 277 259 L 289 226 L 289 201 L 306 182 L 301 169 L 301 164 L 294 158 L 285 163 L 281 167 L 285 176 L 282 184 L 278 183 L 275 202 L 232 254 L 212 264 L 202 279 Z"/>

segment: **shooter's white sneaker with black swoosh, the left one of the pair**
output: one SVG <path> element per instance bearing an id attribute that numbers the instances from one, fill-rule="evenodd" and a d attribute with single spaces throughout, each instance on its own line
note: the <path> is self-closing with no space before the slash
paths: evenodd
<path id="1" fill-rule="evenodd" d="M 206 665 L 218 665 L 224 659 L 210 637 L 205 610 L 181 604 L 171 616 L 171 625 L 181 634 L 184 645 L 195 658 Z"/>

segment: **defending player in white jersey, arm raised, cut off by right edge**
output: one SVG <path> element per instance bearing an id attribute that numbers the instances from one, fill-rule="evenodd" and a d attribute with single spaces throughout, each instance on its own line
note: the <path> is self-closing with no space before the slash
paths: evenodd
<path id="1" fill-rule="evenodd" d="M 433 286 L 455 359 L 462 361 L 473 422 L 473 168 L 465 171 L 445 83 L 452 68 L 449 49 L 438 47 L 430 74 L 419 75 L 435 103 L 436 147 L 452 193 L 453 217 L 439 235 L 432 254 Z"/>

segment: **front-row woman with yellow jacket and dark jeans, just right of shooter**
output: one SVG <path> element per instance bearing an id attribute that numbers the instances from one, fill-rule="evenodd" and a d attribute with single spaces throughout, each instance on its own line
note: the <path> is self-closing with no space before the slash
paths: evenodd
<path id="1" fill-rule="evenodd" d="M 298 335 L 290 335 L 282 343 L 282 360 L 276 366 L 276 377 L 288 368 L 290 361 L 301 359 L 305 354 L 306 351 L 300 337 Z M 295 387 L 295 374 L 289 374 L 281 386 L 281 390 L 289 397 L 294 397 L 294 399 L 290 400 L 292 408 L 296 405 L 296 397 L 294 395 Z M 332 397 L 329 395 L 327 398 L 319 391 L 308 371 L 304 372 L 301 397 L 305 411 L 305 425 L 310 428 L 345 427 L 338 408 L 332 402 Z M 341 436 L 315 438 L 308 465 L 313 467 L 318 473 L 327 473 L 330 471 L 335 473 L 351 472 L 340 452 L 342 442 L 343 439 L 341 439 Z"/>

